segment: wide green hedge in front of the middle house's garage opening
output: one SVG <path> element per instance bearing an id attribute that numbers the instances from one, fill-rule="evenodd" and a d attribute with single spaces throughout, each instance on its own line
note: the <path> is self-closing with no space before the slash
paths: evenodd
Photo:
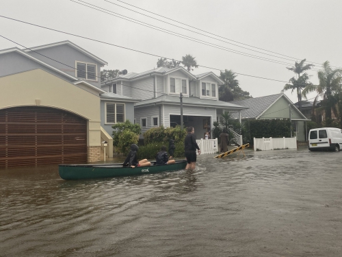
<path id="1" fill-rule="evenodd" d="M 183 143 L 187 132 L 185 129 L 181 130 L 180 126 L 176 127 L 153 127 L 144 133 L 144 143 L 163 143 L 168 145 L 169 140 L 173 139 L 174 143 Z"/>

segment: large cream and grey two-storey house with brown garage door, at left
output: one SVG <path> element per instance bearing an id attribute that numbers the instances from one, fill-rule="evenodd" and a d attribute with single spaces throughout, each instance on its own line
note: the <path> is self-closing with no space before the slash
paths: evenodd
<path id="1" fill-rule="evenodd" d="M 101 89 L 106 64 L 70 41 L 0 50 L 0 167 L 98 161 L 103 140 L 111 157 L 105 103 L 133 122 L 135 100 Z"/>

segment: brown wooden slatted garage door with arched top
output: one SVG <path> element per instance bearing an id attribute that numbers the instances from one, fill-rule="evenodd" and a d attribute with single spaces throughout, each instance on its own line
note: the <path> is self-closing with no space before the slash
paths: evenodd
<path id="1" fill-rule="evenodd" d="M 0 110 L 0 167 L 87 162 L 87 121 L 45 107 Z"/>

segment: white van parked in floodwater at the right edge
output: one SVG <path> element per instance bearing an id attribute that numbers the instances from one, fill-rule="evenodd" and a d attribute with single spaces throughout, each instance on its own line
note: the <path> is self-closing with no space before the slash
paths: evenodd
<path id="1" fill-rule="evenodd" d="M 342 147 L 342 130 L 336 127 L 320 127 L 310 130 L 308 138 L 310 151 L 339 151 Z"/>

